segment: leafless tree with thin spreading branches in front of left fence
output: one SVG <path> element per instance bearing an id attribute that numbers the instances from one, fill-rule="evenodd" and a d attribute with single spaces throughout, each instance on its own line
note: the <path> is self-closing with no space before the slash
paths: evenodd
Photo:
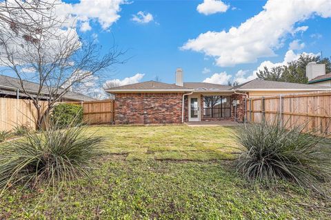
<path id="1" fill-rule="evenodd" d="M 10 13 L 6 3 L 2 7 Z M 19 89 L 32 100 L 37 109 L 39 129 L 44 116 L 73 87 L 94 80 L 97 74 L 114 64 L 123 63 L 119 61 L 123 52 L 116 46 L 101 55 L 100 46 L 80 39 L 71 25 L 56 17 L 52 10 L 54 4 L 48 4 L 48 12 L 38 7 L 29 11 L 29 5 L 15 8 L 15 13 L 23 14 L 26 19 L 19 19 L 14 28 L 12 20 L 0 18 L 1 65 L 16 74 Z M 38 91 L 30 91 L 26 80 L 38 83 Z M 40 101 L 45 99 L 48 107 L 42 109 Z"/>

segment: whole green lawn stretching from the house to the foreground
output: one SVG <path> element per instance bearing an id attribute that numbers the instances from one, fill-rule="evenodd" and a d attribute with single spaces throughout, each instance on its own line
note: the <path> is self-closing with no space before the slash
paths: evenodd
<path id="1" fill-rule="evenodd" d="M 52 190 L 11 188 L 0 219 L 329 219 L 331 203 L 290 184 L 250 184 L 230 166 L 234 127 L 94 126 L 107 151 L 92 172 Z M 82 186 L 79 186 L 79 185 Z"/>

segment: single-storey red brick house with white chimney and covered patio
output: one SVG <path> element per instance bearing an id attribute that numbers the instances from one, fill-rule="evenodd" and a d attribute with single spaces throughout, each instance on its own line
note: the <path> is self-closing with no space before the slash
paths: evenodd
<path id="1" fill-rule="evenodd" d="M 212 83 L 183 83 L 177 69 L 176 83 L 148 81 L 106 89 L 115 95 L 115 124 L 179 124 L 193 121 L 242 122 L 245 98 L 328 90 L 298 83 L 252 80 L 237 87 Z"/>

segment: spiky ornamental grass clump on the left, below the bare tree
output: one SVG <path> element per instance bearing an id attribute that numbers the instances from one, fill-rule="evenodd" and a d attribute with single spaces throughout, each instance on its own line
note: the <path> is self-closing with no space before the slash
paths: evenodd
<path id="1" fill-rule="evenodd" d="M 101 137 L 88 135 L 86 127 L 72 124 L 77 123 L 64 129 L 53 124 L 38 133 L 28 131 L 1 148 L 2 191 L 15 184 L 60 187 L 73 179 L 89 177 L 90 168 L 102 153 Z"/>

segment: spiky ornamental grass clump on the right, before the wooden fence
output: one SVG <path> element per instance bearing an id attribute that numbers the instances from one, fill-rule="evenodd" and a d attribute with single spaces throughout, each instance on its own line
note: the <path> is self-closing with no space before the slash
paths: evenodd
<path id="1" fill-rule="evenodd" d="M 304 133 L 305 127 L 287 129 L 279 120 L 241 126 L 237 170 L 246 179 L 267 186 L 285 179 L 325 194 L 323 184 L 331 179 L 331 140 Z"/>

